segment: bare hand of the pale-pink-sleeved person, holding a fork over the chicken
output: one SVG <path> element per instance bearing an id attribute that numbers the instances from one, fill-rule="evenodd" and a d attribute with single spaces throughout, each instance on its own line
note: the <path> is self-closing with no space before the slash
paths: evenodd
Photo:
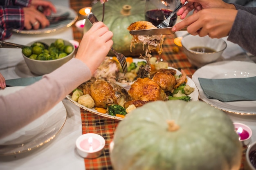
<path id="1" fill-rule="evenodd" d="M 113 33 L 103 22 L 95 22 L 82 38 L 76 58 L 84 62 L 93 74 L 103 62 L 111 46 Z"/>

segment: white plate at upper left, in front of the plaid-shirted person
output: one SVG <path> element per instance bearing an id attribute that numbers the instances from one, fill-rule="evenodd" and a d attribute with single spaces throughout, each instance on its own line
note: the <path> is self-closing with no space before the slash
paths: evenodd
<path id="1" fill-rule="evenodd" d="M 45 34 L 45 33 L 52 33 L 55 32 L 57 30 L 60 29 L 64 29 L 67 28 L 69 26 L 72 26 L 72 24 L 74 24 L 74 22 L 77 20 L 78 16 L 77 13 L 71 9 L 71 8 L 67 8 L 67 7 L 63 7 L 63 6 L 55 6 L 57 9 L 56 13 L 53 13 L 53 16 L 59 16 L 63 13 L 70 13 L 69 15 L 69 19 L 67 20 L 63 20 L 60 21 L 58 23 L 54 23 L 54 24 L 50 24 L 48 27 L 44 28 L 44 29 L 31 29 L 31 30 L 18 30 L 18 29 L 13 29 L 14 32 L 16 33 L 21 33 L 21 34 Z"/>

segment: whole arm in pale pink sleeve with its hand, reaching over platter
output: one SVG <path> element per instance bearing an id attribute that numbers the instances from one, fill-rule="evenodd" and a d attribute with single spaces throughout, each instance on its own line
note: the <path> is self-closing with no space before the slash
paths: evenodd
<path id="1" fill-rule="evenodd" d="M 84 34 L 76 58 L 13 95 L 0 96 L 0 138 L 40 117 L 89 80 L 113 45 L 112 36 L 103 22 L 93 24 Z"/>

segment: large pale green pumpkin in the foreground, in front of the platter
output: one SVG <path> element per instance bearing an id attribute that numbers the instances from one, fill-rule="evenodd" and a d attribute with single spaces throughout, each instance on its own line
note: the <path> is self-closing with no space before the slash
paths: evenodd
<path id="1" fill-rule="evenodd" d="M 234 125 L 204 102 L 150 102 L 117 126 L 110 152 L 115 170 L 239 170 Z"/>

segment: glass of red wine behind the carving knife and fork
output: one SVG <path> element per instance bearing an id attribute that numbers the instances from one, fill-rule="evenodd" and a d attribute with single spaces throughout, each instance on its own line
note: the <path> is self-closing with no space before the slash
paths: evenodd
<path id="1" fill-rule="evenodd" d="M 145 20 L 157 26 L 168 18 L 171 12 L 177 7 L 177 0 L 146 0 Z M 169 26 L 173 26 L 177 20 L 177 15 L 173 15 Z"/>

